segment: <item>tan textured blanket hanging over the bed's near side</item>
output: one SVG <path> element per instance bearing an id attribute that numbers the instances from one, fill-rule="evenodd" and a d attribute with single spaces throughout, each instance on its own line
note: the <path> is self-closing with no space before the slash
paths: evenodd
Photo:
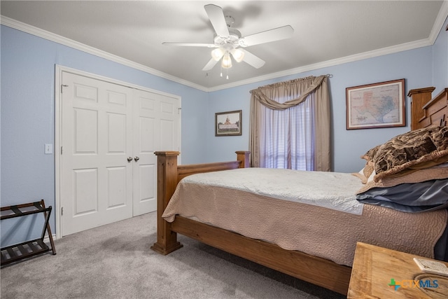
<path id="1" fill-rule="evenodd" d="M 409 214 L 370 204 L 354 215 L 182 181 L 163 217 L 172 222 L 176 215 L 349 266 L 356 242 L 433 258 L 448 219 L 447 210 Z"/>

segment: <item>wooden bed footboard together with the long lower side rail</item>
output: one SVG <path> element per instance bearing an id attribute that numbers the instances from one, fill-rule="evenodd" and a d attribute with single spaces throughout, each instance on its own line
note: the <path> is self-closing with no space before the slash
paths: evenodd
<path id="1" fill-rule="evenodd" d="M 177 183 L 183 177 L 195 173 L 248 167 L 248 152 L 238 151 L 237 161 L 179 166 L 177 166 L 179 155 L 177 151 L 156 152 L 155 155 L 158 155 L 158 239 L 151 249 L 166 255 L 181 248 L 183 245 L 177 241 L 177 233 L 180 233 L 241 258 L 346 295 L 351 267 L 338 265 L 300 251 L 282 249 L 275 244 L 244 237 L 189 218 L 176 216 L 172 223 L 162 218 Z"/>

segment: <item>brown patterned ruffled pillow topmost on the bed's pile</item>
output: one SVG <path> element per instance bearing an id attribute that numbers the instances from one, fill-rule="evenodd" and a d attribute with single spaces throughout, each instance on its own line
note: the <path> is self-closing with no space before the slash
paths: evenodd
<path id="1" fill-rule="evenodd" d="M 375 181 L 411 167 L 438 165 L 448 161 L 448 127 L 432 126 L 410 131 L 375 148 L 370 150 L 374 152 Z M 365 156 L 371 156 L 370 151 Z"/>

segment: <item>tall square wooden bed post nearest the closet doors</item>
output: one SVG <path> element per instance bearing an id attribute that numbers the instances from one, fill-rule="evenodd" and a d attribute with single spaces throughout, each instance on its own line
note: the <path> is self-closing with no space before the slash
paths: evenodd
<path id="1" fill-rule="evenodd" d="M 171 223 L 162 218 L 177 186 L 177 156 L 179 151 L 157 151 L 157 242 L 151 246 L 153 251 L 163 254 L 181 248 L 177 233 L 171 230 Z"/>

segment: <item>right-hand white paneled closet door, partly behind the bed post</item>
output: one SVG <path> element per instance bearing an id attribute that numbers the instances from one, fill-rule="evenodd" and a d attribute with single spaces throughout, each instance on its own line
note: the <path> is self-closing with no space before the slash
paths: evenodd
<path id="1" fill-rule="evenodd" d="M 179 151 L 179 105 L 169 95 L 134 90 L 134 216 L 157 209 L 154 152 Z"/>

